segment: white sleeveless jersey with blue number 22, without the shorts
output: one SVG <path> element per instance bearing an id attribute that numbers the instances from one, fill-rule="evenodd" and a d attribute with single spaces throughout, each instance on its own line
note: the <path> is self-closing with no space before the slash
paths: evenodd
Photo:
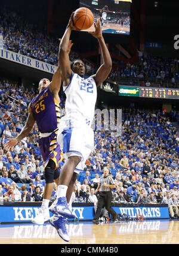
<path id="1" fill-rule="evenodd" d="M 63 86 L 66 94 L 65 111 L 66 120 L 70 125 L 82 122 L 91 127 L 94 118 L 95 102 L 97 100 L 97 87 L 93 77 L 84 79 L 73 73 L 68 86 Z"/>

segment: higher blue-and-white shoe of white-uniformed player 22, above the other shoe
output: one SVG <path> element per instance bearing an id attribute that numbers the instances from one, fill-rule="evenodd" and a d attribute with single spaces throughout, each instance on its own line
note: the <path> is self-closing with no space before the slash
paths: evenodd
<path id="1" fill-rule="evenodd" d="M 64 218 L 75 219 L 76 216 L 69 209 L 66 197 L 57 198 L 53 204 L 51 204 L 49 210 L 55 215 L 61 215 Z"/>

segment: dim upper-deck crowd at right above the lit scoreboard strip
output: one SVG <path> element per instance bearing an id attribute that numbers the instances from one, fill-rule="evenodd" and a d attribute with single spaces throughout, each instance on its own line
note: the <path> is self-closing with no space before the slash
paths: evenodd
<path id="1" fill-rule="evenodd" d="M 127 85 L 179 88 L 179 59 L 150 56 L 144 53 L 135 64 L 129 62 L 110 73 L 110 79 Z"/>

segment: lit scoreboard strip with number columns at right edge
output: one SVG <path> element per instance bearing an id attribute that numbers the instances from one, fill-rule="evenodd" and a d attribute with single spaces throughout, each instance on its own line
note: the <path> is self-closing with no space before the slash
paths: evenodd
<path id="1" fill-rule="evenodd" d="M 162 98 L 179 100 L 179 89 L 140 88 L 141 98 Z"/>

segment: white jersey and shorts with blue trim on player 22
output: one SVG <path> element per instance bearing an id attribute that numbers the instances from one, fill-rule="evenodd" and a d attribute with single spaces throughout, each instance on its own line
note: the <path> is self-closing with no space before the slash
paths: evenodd
<path id="1" fill-rule="evenodd" d="M 80 62 L 80 60 L 77 60 Z M 76 62 L 75 62 L 76 63 Z M 94 148 L 94 132 L 91 129 L 94 118 L 97 88 L 93 77 L 84 79 L 73 73 L 66 94 L 66 116 L 61 118 L 57 141 L 63 148 L 63 157 L 80 156 L 75 172 L 84 170 L 85 161 Z"/>

